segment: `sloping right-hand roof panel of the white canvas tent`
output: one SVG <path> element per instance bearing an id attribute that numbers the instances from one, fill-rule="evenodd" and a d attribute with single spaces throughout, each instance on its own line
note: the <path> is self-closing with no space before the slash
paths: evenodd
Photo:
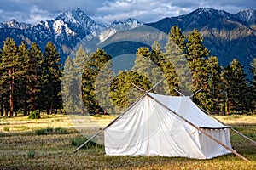
<path id="1" fill-rule="evenodd" d="M 160 101 L 179 116 L 193 123 L 196 127 L 203 128 L 227 128 L 224 124 L 217 122 L 212 117 L 207 116 L 189 96 L 167 96 L 149 93 L 149 96 Z M 172 113 L 170 113 L 172 114 Z"/>

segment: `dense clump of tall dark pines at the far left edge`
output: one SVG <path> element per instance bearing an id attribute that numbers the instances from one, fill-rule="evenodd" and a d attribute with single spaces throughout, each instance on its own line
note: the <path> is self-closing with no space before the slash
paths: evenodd
<path id="1" fill-rule="evenodd" d="M 33 42 L 17 46 L 7 38 L 0 51 L 0 112 L 1 116 L 17 116 L 23 112 L 46 111 L 62 107 L 60 54 L 49 42 L 44 53 Z"/>

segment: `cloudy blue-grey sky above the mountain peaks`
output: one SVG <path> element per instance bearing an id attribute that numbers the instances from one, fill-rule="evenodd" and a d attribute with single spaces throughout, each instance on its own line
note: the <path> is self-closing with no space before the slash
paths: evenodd
<path id="1" fill-rule="evenodd" d="M 0 22 L 17 20 L 37 24 L 80 8 L 101 24 L 135 18 L 155 22 L 165 17 L 189 14 L 197 8 L 215 8 L 236 14 L 241 9 L 256 9 L 256 0 L 0 0 Z"/>

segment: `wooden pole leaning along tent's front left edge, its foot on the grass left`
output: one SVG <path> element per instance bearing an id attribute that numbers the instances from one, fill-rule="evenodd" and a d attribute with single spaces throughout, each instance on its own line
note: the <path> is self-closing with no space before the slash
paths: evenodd
<path id="1" fill-rule="evenodd" d="M 125 111 L 124 113 L 122 113 L 121 115 L 119 115 L 118 117 L 116 117 L 112 122 L 110 122 L 106 127 L 102 128 L 99 132 L 95 133 L 92 137 L 90 137 L 90 139 L 87 139 L 87 140 L 84 142 L 84 144 L 81 144 L 76 150 L 73 150 L 73 153 L 75 153 L 76 151 L 78 151 L 78 150 L 80 150 L 81 148 L 83 148 L 85 144 L 87 144 L 88 142 L 90 142 L 90 140 L 95 139 L 96 136 L 98 136 L 100 133 L 102 133 L 103 131 L 105 131 L 105 130 L 106 130 L 108 127 L 110 127 L 114 122 L 116 122 L 121 116 L 125 115 L 125 113 L 126 113 L 127 111 L 129 111 L 133 105 L 136 105 L 138 101 L 140 101 L 141 99 L 143 99 L 143 98 L 144 98 L 154 87 L 156 87 L 160 82 L 161 82 L 161 80 L 160 80 L 159 82 L 157 82 L 156 84 L 154 84 L 154 86 L 153 86 L 152 88 L 150 88 L 148 91 L 146 91 L 146 93 L 143 94 L 142 97 L 140 97 L 139 99 L 137 99 L 136 102 L 134 102 L 132 105 L 130 105 L 130 106 L 126 109 L 126 111 Z M 131 84 L 133 84 L 133 83 L 131 83 Z"/>

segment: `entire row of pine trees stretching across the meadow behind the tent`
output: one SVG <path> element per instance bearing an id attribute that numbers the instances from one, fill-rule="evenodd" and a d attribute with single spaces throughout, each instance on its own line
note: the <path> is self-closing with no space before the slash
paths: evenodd
<path id="1" fill-rule="evenodd" d="M 116 76 L 109 69 L 111 56 L 102 49 L 86 54 L 84 47 L 80 46 L 73 59 L 67 57 L 63 70 L 60 54 L 51 42 L 43 52 L 35 42 L 30 47 L 25 42 L 17 46 L 13 39 L 7 38 L 0 50 L 1 116 L 16 116 L 18 112 L 27 115 L 30 111 L 50 114 L 63 107 L 70 113 L 113 113 L 115 106 L 131 104 L 131 96 L 128 96 L 134 88 L 131 82 L 148 90 L 163 79 L 166 86 L 161 90 L 179 95 L 174 88 L 183 89 L 186 72 L 191 73 L 192 81 L 186 88 L 192 92 L 201 89 L 193 100 L 204 110 L 212 114 L 254 114 L 256 59 L 251 63 L 253 80 L 249 81 L 237 59 L 233 59 L 230 65 L 220 66 L 218 58 L 209 55 L 199 31 L 194 29 L 183 36 L 177 26 L 172 27 L 164 48 L 165 52 L 158 42 L 154 42 L 151 48 L 138 48 L 131 71 L 119 71 Z M 178 72 L 178 66 L 184 62 L 188 67 L 180 68 Z M 152 69 L 152 64 L 157 68 Z M 98 89 L 96 85 L 102 88 Z"/>

